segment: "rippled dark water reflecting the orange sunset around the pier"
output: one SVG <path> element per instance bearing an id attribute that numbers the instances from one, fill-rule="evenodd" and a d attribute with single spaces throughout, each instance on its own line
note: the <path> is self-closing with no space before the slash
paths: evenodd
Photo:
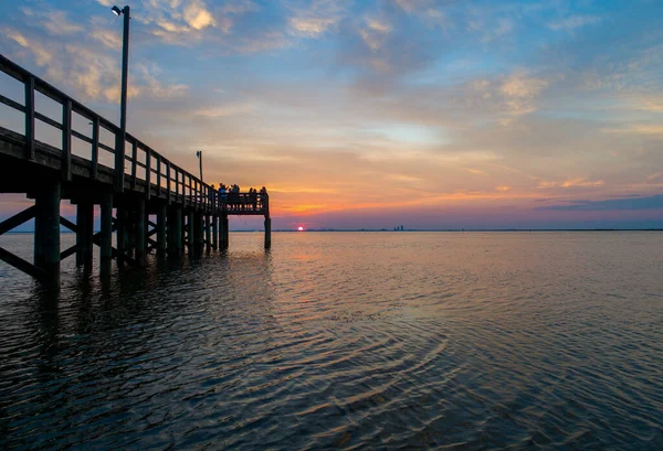
<path id="1" fill-rule="evenodd" d="M 59 298 L 1 265 L 0 448 L 663 449 L 663 234 L 261 244 Z"/>

